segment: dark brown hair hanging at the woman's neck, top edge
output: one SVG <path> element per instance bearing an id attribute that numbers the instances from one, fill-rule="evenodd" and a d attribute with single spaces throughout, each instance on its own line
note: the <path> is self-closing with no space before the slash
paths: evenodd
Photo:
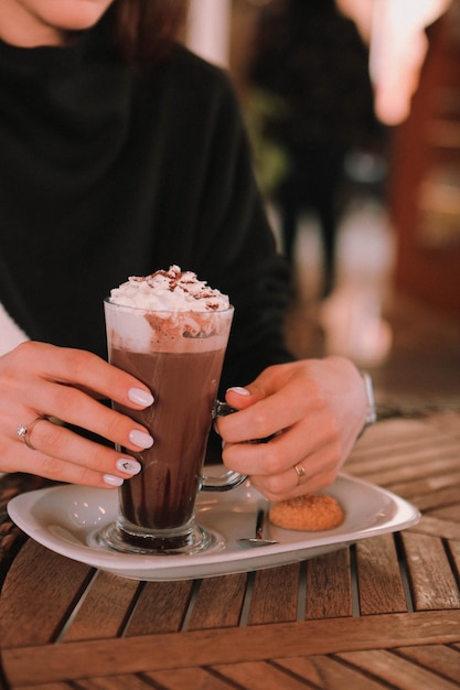
<path id="1" fill-rule="evenodd" d="M 133 65 L 164 57 L 184 29 L 189 0 L 115 0 L 114 41 Z"/>

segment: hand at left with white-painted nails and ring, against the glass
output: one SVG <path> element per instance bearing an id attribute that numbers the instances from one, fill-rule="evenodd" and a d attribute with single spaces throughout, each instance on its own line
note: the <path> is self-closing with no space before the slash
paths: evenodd
<path id="1" fill-rule="evenodd" d="M 0 357 L 0 472 L 105 488 L 138 474 L 141 466 L 130 453 L 150 448 L 153 439 L 142 425 L 100 402 L 103 398 L 133 410 L 153 402 L 133 376 L 82 349 L 28 342 Z M 33 424 L 43 417 L 53 421 Z M 125 451 L 84 438 L 65 424 Z M 20 425 L 29 429 L 32 448 L 18 434 Z"/>

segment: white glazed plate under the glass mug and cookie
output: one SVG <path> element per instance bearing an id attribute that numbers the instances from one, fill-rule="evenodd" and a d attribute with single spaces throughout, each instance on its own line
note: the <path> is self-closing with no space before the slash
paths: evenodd
<path id="1" fill-rule="evenodd" d="M 207 467 L 206 467 L 207 471 Z M 206 472 L 207 473 L 207 472 Z M 335 551 L 359 539 L 411 527 L 418 510 L 391 492 L 345 474 L 323 493 L 345 511 L 340 527 L 306 532 L 267 526 L 278 543 L 245 549 L 238 538 L 255 531 L 263 496 L 246 482 L 226 493 L 201 494 L 196 520 L 216 533 L 218 546 L 195 556 L 138 556 L 104 549 L 94 540 L 117 517 L 116 490 L 56 486 L 17 496 L 8 504 L 12 520 L 52 551 L 108 572 L 137 580 L 185 580 L 282 565 Z"/>

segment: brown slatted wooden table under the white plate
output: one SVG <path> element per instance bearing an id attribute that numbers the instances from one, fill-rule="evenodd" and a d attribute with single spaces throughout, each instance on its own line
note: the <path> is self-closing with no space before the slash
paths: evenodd
<path id="1" fill-rule="evenodd" d="M 460 416 L 379 422 L 346 470 L 414 503 L 419 525 L 301 563 L 146 583 L 3 524 L 4 687 L 459 688 Z"/>

